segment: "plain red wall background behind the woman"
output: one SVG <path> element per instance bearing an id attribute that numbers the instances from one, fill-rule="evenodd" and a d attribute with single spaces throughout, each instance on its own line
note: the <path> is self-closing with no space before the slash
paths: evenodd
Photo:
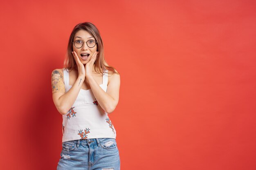
<path id="1" fill-rule="evenodd" d="M 92 22 L 120 72 L 122 170 L 256 169 L 253 0 L 1 1 L 2 170 L 54 170 L 62 117 L 51 72 Z"/>

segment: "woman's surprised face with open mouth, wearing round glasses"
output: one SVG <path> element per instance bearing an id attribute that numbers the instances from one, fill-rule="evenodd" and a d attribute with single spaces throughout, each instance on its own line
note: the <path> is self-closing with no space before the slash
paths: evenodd
<path id="1" fill-rule="evenodd" d="M 76 34 L 74 35 L 74 40 L 73 42 L 75 42 L 76 40 L 81 40 L 83 41 L 83 46 L 81 48 L 76 48 L 76 46 L 73 43 L 73 51 L 76 51 L 76 54 L 79 57 L 79 60 L 83 63 L 86 64 L 90 61 L 90 58 L 92 57 L 92 54 L 97 50 L 97 43 L 95 44 L 94 47 L 90 48 L 88 47 L 88 45 L 86 44 L 86 42 L 88 40 L 94 40 L 96 41 L 95 38 L 93 38 L 93 36 L 88 33 L 85 30 L 79 30 L 76 32 Z M 79 43 L 81 43 L 81 41 L 79 41 Z M 91 41 L 92 42 L 92 41 Z M 90 41 L 88 42 L 88 44 L 90 43 Z M 89 54 L 88 55 L 82 55 L 82 54 Z"/>

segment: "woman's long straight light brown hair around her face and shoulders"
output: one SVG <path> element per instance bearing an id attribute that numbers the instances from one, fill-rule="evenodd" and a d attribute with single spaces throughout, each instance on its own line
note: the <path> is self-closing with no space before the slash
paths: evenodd
<path id="1" fill-rule="evenodd" d="M 94 70 L 99 74 L 103 74 L 105 72 L 105 70 L 108 70 L 109 74 L 114 74 L 114 73 L 119 74 L 114 67 L 109 66 L 107 64 L 107 62 L 105 61 L 104 45 L 103 45 L 103 41 L 101 39 L 101 35 L 99 33 L 99 30 L 96 28 L 96 26 L 94 24 L 90 23 L 90 22 L 79 23 L 74 27 L 74 29 L 73 29 L 73 31 L 70 35 L 68 45 L 67 45 L 67 52 L 66 52 L 65 60 L 64 60 L 64 68 L 67 68 L 69 71 L 72 71 L 74 68 L 77 67 L 76 66 L 76 61 L 75 61 L 75 59 L 73 57 L 73 54 L 72 54 L 72 51 L 73 51 L 72 42 L 74 40 L 74 36 L 75 36 L 76 32 L 79 31 L 79 30 L 87 31 L 97 41 L 97 51 L 99 53 L 98 53 L 97 59 L 94 62 L 94 64 L 95 64 L 94 65 Z M 76 70 L 76 69 L 74 69 L 74 70 Z"/>

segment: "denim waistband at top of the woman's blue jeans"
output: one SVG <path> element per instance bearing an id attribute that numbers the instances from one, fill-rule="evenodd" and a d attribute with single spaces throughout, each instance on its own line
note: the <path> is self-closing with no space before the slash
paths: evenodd
<path id="1" fill-rule="evenodd" d="M 79 145 L 87 145 L 87 146 L 92 146 L 92 145 L 98 145 L 100 146 L 100 143 L 106 140 L 116 140 L 115 138 L 94 138 L 94 139 L 78 139 L 78 140 L 72 140 L 72 141 L 65 141 L 63 143 L 72 143 L 76 144 L 76 147 L 79 148 Z"/>

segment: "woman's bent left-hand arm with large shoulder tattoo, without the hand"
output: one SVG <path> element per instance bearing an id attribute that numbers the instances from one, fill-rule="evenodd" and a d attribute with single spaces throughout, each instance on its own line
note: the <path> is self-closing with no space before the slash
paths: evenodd
<path id="1" fill-rule="evenodd" d="M 67 114 L 67 111 L 76 101 L 76 97 L 79 94 L 83 81 L 84 77 L 79 76 L 70 90 L 65 93 L 63 72 L 60 71 L 60 69 L 55 69 L 52 71 L 52 99 L 61 115 Z"/>

